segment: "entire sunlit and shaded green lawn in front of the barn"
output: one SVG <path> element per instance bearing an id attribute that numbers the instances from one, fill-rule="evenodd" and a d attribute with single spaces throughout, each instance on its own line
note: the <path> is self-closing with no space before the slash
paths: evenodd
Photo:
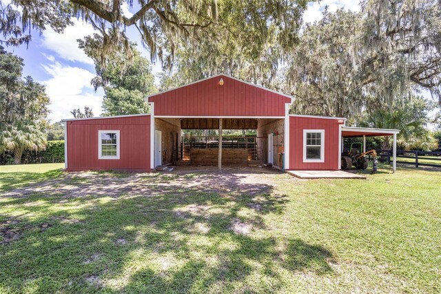
<path id="1" fill-rule="evenodd" d="M 0 167 L 0 293 L 441 292 L 440 172 L 60 167 Z"/>

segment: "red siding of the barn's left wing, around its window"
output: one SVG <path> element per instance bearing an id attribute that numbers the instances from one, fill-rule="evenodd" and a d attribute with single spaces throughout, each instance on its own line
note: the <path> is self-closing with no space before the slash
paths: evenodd
<path id="1" fill-rule="evenodd" d="M 66 121 L 68 170 L 150 171 L 150 115 Z M 98 131 L 120 130 L 120 159 L 98 159 Z"/>

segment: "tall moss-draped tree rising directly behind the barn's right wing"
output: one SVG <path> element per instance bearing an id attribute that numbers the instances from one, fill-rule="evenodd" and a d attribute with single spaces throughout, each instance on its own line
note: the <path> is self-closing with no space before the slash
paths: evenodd
<path id="1" fill-rule="evenodd" d="M 295 52 L 287 57 L 285 90 L 296 97 L 294 112 L 352 117 L 366 103 L 353 84 L 351 45 L 360 14 L 337 10 L 305 26 Z"/>

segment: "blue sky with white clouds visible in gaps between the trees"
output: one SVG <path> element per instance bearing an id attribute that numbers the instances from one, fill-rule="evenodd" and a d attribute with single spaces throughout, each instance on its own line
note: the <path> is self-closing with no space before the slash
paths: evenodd
<path id="1" fill-rule="evenodd" d="M 320 3 L 309 3 L 304 20 L 312 22 L 321 19 L 321 11 L 325 6 L 329 6 L 331 12 L 338 8 L 360 9 L 358 1 L 323 0 Z M 127 16 L 132 14 L 127 5 L 123 6 L 123 13 Z M 51 121 L 72 118 L 72 109 L 83 109 L 85 106 L 91 107 L 95 116 L 101 115 L 103 90 L 94 92 L 90 84 L 95 76 L 94 64 L 92 59 L 78 48 L 76 42 L 76 39 L 92 35 L 94 30 L 82 21 L 75 19 L 74 23 L 74 26 L 66 28 L 63 34 L 51 29 L 43 31 L 41 35 L 39 32 L 33 32 L 28 48 L 6 48 L 24 59 L 24 75 L 30 75 L 46 86 L 46 92 L 50 97 Z M 131 41 L 141 44 L 139 35 L 133 29 L 128 29 L 127 35 Z M 150 53 L 145 48 L 139 46 L 139 49 L 147 59 L 150 58 Z M 154 75 L 161 72 L 160 64 L 153 64 L 152 70 Z"/>

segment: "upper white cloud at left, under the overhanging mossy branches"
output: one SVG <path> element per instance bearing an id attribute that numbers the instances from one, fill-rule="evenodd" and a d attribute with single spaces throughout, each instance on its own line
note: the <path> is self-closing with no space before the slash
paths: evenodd
<path id="1" fill-rule="evenodd" d="M 83 39 L 87 35 L 92 35 L 94 29 L 89 23 L 83 23 L 78 19 L 73 21 L 74 25 L 65 28 L 61 34 L 54 32 L 51 28 L 45 30 L 41 39 L 43 47 L 53 51 L 55 55 L 65 60 L 93 64 L 92 59 L 78 48 L 76 39 Z"/>

